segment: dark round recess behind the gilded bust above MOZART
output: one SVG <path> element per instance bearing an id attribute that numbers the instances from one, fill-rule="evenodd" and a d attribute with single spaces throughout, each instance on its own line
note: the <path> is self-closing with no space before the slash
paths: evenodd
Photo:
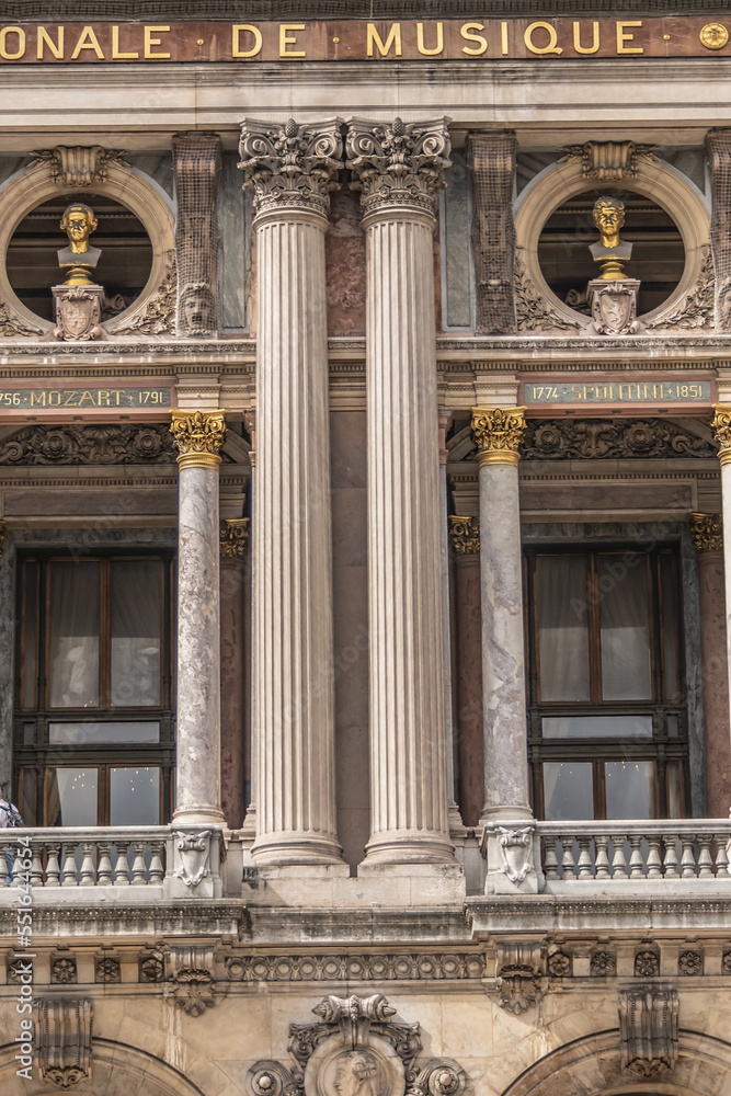
<path id="1" fill-rule="evenodd" d="M 8 244 L 8 279 L 25 308 L 53 321 L 50 287 L 66 277 L 56 254 L 67 246 L 60 219 L 72 203 L 91 206 L 99 222 L 90 243 L 101 248 L 102 255 L 91 276 L 104 286 L 102 319 L 110 320 L 129 308 L 145 288 L 152 267 L 152 246 L 139 218 L 106 194 L 61 194 L 31 209 Z"/>

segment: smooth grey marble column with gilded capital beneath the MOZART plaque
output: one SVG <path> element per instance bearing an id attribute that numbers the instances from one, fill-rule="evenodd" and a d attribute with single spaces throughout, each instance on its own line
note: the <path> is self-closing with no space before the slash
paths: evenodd
<path id="1" fill-rule="evenodd" d="M 178 446 L 179 823 L 224 822 L 220 804 L 220 612 L 218 468 L 222 411 L 173 411 Z"/>

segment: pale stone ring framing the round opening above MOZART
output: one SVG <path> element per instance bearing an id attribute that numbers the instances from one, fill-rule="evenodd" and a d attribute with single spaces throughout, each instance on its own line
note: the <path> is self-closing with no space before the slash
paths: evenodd
<path id="1" fill-rule="evenodd" d="M 56 182 L 50 165 L 45 161 L 18 172 L 0 187 L 0 256 L 2 256 L 0 300 L 15 319 L 26 327 L 43 331 L 49 331 L 53 324 L 32 312 L 15 295 L 8 278 L 5 255 L 21 221 L 37 206 L 57 197 L 59 193 L 62 193 L 62 185 Z M 145 311 L 148 300 L 160 286 L 174 260 L 175 219 L 172 206 L 152 180 L 147 181 L 141 173 L 116 162 L 106 165 L 103 182 L 94 183 L 90 187 L 75 187 L 68 193 L 72 193 L 73 201 L 87 202 L 88 205 L 93 205 L 95 194 L 108 195 L 135 214 L 150 239 L 152 263 L 147 282 L 129 308 L 104 323 L 108 331 L 114 331 Z"/>

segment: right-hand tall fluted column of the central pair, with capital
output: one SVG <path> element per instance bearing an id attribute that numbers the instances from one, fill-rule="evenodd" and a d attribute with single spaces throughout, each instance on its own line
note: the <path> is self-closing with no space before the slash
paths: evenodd
<path id="1" fill-rule="evenodd" d="M 450 861 L 436 445 L 435 193 L 446 119 L 349 128 L 366 233 L 370 806 L 366 864 Z"/>

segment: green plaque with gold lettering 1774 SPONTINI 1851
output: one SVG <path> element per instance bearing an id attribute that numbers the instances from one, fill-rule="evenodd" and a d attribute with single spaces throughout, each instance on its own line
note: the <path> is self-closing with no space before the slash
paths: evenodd
<path id="1" fill-rule="evenodd" d="M 581 407 L 593 409 L 672 403 L 708 407 L 710 380 L 596 380 L 579 384 L 526 383 L 521 400 L 526 407 Z"/>

